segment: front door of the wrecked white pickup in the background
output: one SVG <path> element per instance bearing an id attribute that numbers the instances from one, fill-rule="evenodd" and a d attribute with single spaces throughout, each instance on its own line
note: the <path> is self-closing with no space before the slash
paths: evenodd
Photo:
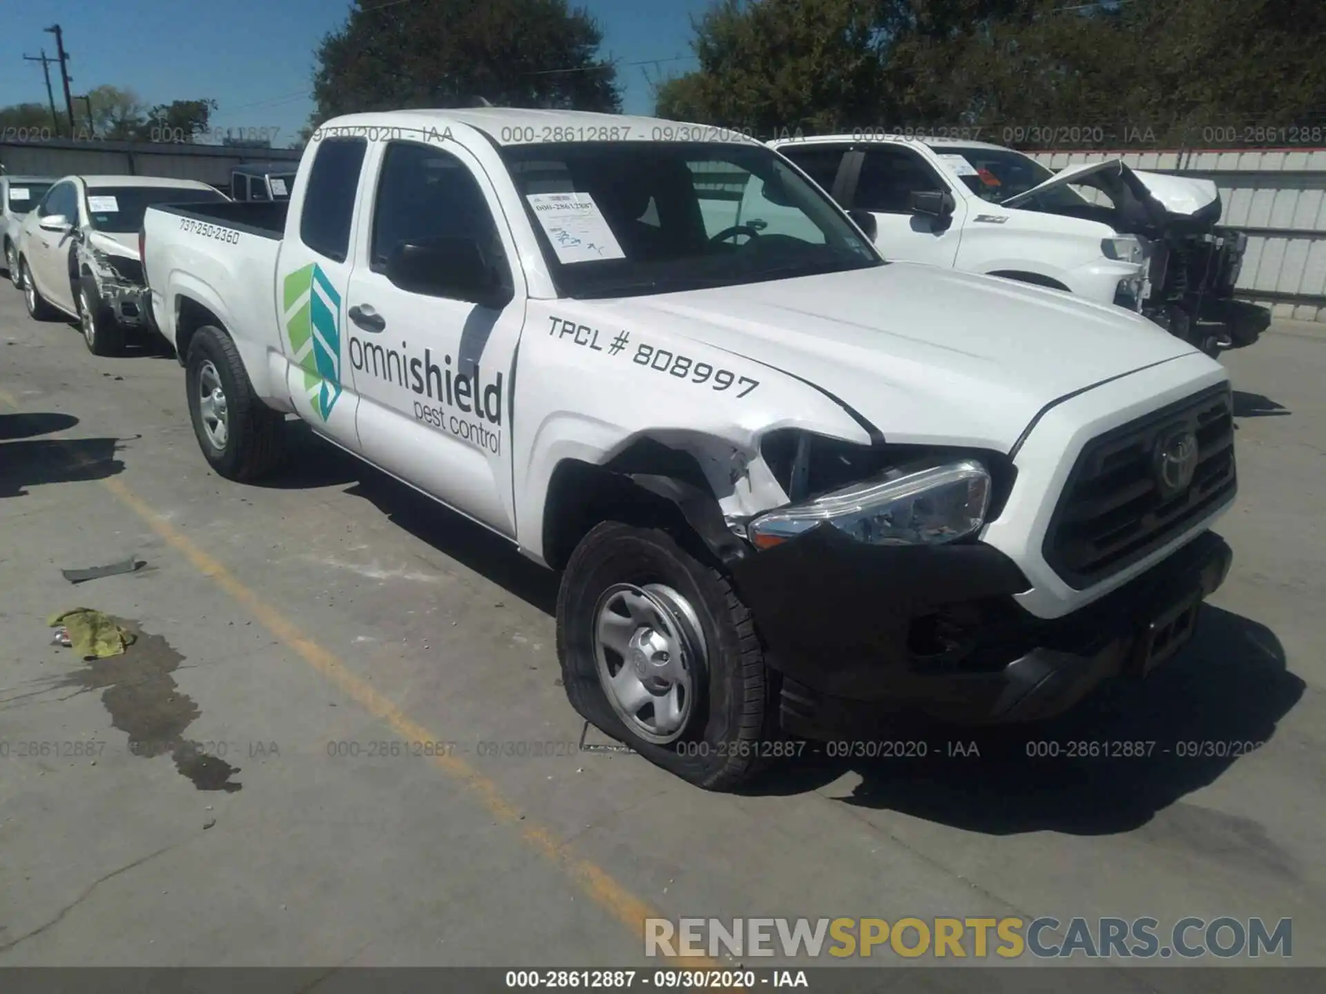
<path id="1" fill-rule="evenodd" d="M 853 155 L 859 156 L 859 172 L 843 205 L 875 216 L 875 245 L 884 258 L 952 268 L 967 220 L 967 197 L 949 190 L 919 152 L 902 144 L 858 146 Z M 907 199 L 927 191 L 951 193 L 953 213 L 944 219 L 914 215 Z"/>

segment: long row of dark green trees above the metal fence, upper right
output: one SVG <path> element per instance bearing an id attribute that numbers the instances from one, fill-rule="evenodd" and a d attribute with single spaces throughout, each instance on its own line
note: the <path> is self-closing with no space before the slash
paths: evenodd
<path id="1" fill-rule="evenodd" d="M 1322 37 L 1321 0 L 719 0 L 695 24 L 700 68 L 658 89 L 658 113 L 1193 144 L 1211 126 L 1326 125 Z"/>

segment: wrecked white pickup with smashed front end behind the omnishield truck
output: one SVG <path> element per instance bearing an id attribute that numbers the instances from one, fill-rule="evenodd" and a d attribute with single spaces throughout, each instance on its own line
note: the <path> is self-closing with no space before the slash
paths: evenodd
<path id="1" fill-rule="evenodd" d="M 870 212 L 886 258 L 1116 304 L 1211 355 L 1252 345 L 1270 323 L 1266 307 L 1235 300 L 1246 237 L 1217 227 L 1209 179 L 1120 159 L 1050 172 L 1013 148 L 957 138 L 867 131 L 770 144 L 843 207 Z"/>

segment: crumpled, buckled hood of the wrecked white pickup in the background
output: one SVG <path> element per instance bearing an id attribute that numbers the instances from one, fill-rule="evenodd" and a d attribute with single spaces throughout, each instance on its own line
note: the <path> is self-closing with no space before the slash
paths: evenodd
<path id="1" fill-rule="evenodd" d="M 1220 220 L 1220 191 L 1212 180 L 1140 172 L 1124 166 L 1123 159 L 1069 166 L 1040 186 L 1004 200 L 1002 207 L 1020 207 L 1037 193 L 1070 183 L 1093 187 L 1109 196 L 1120 233 L 1207 231 Z"/>

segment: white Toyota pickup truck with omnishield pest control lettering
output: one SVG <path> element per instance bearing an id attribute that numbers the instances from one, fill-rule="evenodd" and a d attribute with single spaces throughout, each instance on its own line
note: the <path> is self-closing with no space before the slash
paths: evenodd
<path id="1" fill-rule="evenodd" d="M 350 115 L 288 204 L 152 207 L 143 243 L 216 472 L 273 470 L 294 415 L 561 570 L 572 704 L 703 787 L 892 708 L 1062 712 L 1170 657 L 1229 567 L 1219 363 L 886 262 L 712 129 Z"/>

